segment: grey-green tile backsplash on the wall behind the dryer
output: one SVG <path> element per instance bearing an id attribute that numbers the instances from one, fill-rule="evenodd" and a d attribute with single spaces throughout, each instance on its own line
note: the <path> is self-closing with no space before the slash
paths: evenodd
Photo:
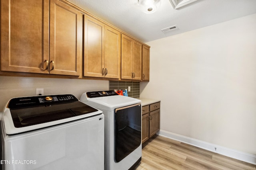
<path id="1" fill-rule="evenodd" d="M 128 96 L 132 98 L 140 98 L 140 82 L 109 81 L 109 90 L 127 89 L 128 91 L 128 86 L 131 87 L 131 91 L 128 92 Z"/>

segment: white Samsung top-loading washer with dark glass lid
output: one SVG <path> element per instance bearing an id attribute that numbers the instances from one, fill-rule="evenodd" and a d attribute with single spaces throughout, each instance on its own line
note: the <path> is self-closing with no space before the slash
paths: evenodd
<path id="1" fill-rule="evenodd" d="M 104 169 L 104 115 L 73 95 L 11 99 L 2 115 L 4 170 Z"/>

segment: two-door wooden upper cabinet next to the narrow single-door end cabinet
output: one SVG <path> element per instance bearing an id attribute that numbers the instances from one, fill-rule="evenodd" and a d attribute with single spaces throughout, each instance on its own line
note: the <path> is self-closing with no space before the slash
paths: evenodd
<path id="1" fill-rule="evenodd" d="M 122 35 L 121 78 L 141 80 L 142 44 Z"/>

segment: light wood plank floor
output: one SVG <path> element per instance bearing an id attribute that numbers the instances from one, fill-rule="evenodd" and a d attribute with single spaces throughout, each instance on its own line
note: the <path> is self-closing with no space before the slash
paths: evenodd
<path id="1" fill-rule="evenodd" d="M 192 145 L 154 136 L 142 146 L 135 170 L 256 170 L 256 165 Z"/>

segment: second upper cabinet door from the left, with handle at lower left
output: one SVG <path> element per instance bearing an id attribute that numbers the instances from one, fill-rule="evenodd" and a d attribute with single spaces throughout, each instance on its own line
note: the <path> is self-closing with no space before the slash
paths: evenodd
<path id="1" fill-rule="evenodd" d="M 82 14 L 59 0 L 50 1 L 50 74 L 80 74 Z"/>

